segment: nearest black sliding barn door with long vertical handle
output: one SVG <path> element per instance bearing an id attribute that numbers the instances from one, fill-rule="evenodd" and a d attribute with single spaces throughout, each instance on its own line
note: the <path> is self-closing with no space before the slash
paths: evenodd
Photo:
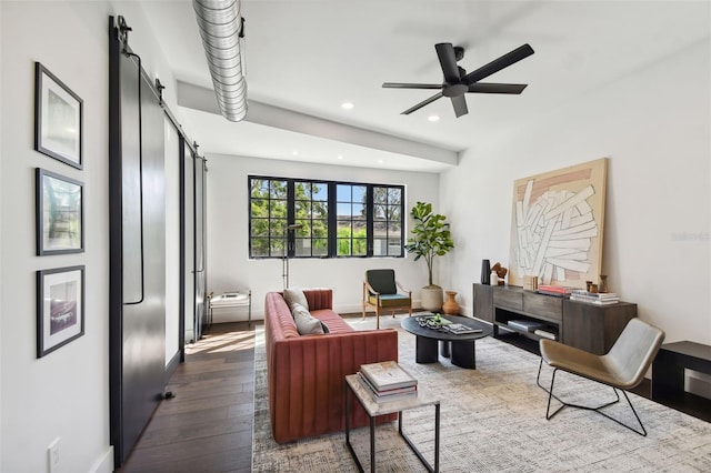
<path id="1" fill-rule="evenodd" d="M 140 60 L 110 42 L 110 403 L 121 465 L 163 394 L 164 114 Z"/>

